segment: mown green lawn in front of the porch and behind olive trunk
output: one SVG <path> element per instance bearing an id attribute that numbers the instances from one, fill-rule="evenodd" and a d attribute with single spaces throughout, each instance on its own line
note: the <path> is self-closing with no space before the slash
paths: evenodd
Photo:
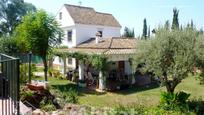
<path id="1" fill-rule="evenodd" d="M 94 91 L 79 88 L 76 84 L 67 80 L 57 80 L 56 78 L 49 78 L 49 83 L 52 88 L 60 91 L 68 91 L 69 88 L 74 88 L 79 91 L 79 103 L 91 106 L 108 106 L 113 107 L 121 105 L 145 105 L 152 106 L 159 103 L 160 92 L 165 91 L 164 87 L 145 87 L 145 88 L 130 88 L 128 90 L 97 93 Z M 195 77 L 188 77 L 176 87 L 176 91 L 185 90 L 191 93 L 190 98 L 204 99 L 204 85 L 199 85 L 199 81 Z"/>

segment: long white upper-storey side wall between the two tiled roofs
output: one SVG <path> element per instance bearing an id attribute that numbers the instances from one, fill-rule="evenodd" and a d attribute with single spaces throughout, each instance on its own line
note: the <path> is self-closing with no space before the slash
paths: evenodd
<path id="1" fill-rule="evenodd" d="M 76 45 L 95 38 L 97 31 L 103 31 L 103 38 L 120 37 L 120 27 L 76 24 Z"/>

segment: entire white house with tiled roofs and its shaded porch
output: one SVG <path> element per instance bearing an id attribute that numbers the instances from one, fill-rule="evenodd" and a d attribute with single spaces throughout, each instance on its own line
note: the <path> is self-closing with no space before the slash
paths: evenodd
<path id="1" fill-rule="evenodd" d="M 56 19 L 64 31 L 62 46 L 66 46 L 57 50 L 58 57 L 54 60 L 62 73 L 66 74 L 69 68 L 78 70 L 80 81 L 91 81 L 91 85 L 100 91 L 120 89 L 135 83 L 132 59 L 136 39 L 121 37 L 121 25 L 112 14 L 65 4 Z M 89 60 L 70 58 L 69 54 L 75 53 L 105 56 L 106 71 L 94 69 Z"/>

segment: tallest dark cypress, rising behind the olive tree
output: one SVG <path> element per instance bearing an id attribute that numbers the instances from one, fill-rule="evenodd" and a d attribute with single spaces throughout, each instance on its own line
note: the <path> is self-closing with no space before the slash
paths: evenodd
<path id="1" fill-rule="evenodd" d="M 173 21 L 172 21 L 172 27 L 171 29 L 179 29 L 179 10 L 177 8 L 173 9 Z"/>

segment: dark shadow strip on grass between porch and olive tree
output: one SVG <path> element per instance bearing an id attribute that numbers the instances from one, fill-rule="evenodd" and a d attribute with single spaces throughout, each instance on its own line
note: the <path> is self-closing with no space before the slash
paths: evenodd
<path id="1" fill-rule="evenodd" d="M 132 93 L 151 90 L 151 89 L 155 89 L 155 88 L 158 88 L 158 87 L 159 87 L 158 84 L 152 83 L 152 84 L 145 85 L 145 86 L 132 86 L 132 87 L 129 87 L 127 89 L 115 91 L 114 93 L 122 94 L 122 95 L 129 95 L 129 94 L 132 94 Z"/>

